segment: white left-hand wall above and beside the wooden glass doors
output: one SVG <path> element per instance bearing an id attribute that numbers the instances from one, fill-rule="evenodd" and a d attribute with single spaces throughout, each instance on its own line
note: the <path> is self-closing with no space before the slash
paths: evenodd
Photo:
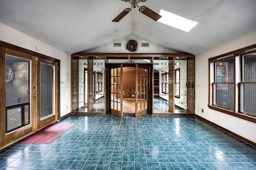
<path id="1" fill-rule="evenodd" d="M 0 41 L 60 60 L 60 116 L 70 113 L 70 54 L 0 23 Z M 40 50 L 36 50 L 36 46 Z"/>

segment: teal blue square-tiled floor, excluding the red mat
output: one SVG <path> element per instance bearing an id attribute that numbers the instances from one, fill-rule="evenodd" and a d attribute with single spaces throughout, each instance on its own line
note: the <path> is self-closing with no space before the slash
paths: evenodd
<path id="1" fill-rule="evenodd" d="M 48 145 L 0 150 L 0 170 L 255 170 L 256 148 L 194 116 L 71 115 Z"/>

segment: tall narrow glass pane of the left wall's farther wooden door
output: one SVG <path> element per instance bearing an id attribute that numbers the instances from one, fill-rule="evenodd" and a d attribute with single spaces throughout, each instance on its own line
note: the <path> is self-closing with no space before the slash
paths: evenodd
<path id="1" fill-rule="evenodd" d="M 40 70 L 40 117 L 54 115 L 54 67 L 41 63 Z"/>

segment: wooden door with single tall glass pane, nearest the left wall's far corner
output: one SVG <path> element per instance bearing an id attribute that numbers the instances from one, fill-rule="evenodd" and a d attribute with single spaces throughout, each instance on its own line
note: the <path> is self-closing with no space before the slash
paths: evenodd
<path id="1" fill-rule="evenodd" d="M 32 98 L 36 98 L 37 129 L 40 129 L 58 119 L 58 63 L 38 58 L 36 71 Z"/>

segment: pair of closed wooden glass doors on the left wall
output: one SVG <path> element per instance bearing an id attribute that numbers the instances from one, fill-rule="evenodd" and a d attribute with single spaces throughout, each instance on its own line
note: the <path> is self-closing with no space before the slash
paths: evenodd
<path id="1" fill-rule="evenodd" d="M 1 149 L 58 119 L 58 60 L 0 51 Z"/>

